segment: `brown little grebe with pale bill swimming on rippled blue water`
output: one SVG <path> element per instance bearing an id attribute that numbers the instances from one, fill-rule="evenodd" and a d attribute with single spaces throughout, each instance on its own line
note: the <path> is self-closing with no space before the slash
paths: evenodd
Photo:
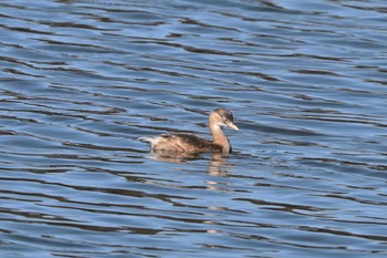
<path id="1" fill-rule="evenodd" d="M 229 154 L 232 152 L 230 141 L 223 133 L 223 127 L 228 126 L 238 131 L 233 123 L 233 116 L 226 109 L 212 111 L 209 117 L 209 126 L 212 134 L 212 141 L 198 137 L 194 134 L 176 133 L 161 134 L 155 137 L 139 137 L 142 142 L 150 143 L 154 151 L 166 151 L 176 153 L 205 153 L 220 152 Z"/>

